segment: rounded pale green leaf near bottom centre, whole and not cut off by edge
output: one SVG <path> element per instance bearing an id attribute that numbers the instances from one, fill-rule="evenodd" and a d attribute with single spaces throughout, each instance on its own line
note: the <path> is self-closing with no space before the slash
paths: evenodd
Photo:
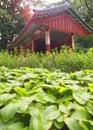
<path id="1" fill-rule="evenodd" d="M 55 105 L 47 107 L 43 112 L 43 117 L 46 121 L 57 119 L 60 115 L 60 111 Z"/>

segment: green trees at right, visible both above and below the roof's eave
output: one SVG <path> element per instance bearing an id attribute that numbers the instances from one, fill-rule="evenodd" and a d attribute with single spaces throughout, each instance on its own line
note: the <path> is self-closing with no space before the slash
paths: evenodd
<path id="1" fill-rule="evenodd" d="M 93 0 L 72 0 L 71 6 L 78 15 L 93 27 Z M 88 37 L 77 37 L 77 48 L 86 49 L 93 47 L 93 34 Z"/>

